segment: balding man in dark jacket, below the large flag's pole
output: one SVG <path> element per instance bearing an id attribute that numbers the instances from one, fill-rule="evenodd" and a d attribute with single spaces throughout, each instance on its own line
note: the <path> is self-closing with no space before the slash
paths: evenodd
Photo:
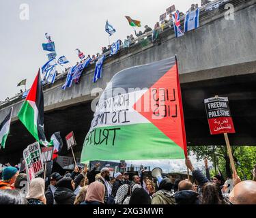
<path id="1" fill-rule="evenodd" d="M 174 198 L 177 204 L 199 204 L 198 196 L 199 193 L 193 191 L 193 184 L 188 180 L 183 180 L 179 183 Z"/>

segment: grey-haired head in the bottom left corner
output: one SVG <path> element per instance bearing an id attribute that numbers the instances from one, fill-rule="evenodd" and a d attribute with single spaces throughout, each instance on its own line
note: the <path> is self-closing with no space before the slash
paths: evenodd
<path id="1" fill-rule="evenodd" d="M 27 199 L 18 190 L 4 189 L 0 190 L 0 205 L 1 204 L 27 204 Z"/>

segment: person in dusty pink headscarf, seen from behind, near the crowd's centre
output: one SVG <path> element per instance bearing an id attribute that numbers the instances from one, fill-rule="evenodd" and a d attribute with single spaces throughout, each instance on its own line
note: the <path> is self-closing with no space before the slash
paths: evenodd
<path id="1" fill-rule="evenodd" d="M 95 181 L 87 187 L 85 201 L 81 204 L 104 204 L 104 193 L 104 185 L 98 181 Z"/>

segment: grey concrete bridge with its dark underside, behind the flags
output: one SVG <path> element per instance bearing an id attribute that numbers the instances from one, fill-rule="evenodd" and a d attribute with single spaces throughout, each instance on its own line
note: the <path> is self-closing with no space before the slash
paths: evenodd
<path id="1" fill-rule="evenodd" d="M 203 99 L 214 95 L 229 97 L 237 132 L 230 136 L 231 144 L 256 145 L 256 0 L 226 3 L 234 6 L 234 20 L 225 19 L 225 5 L 212 11 L 202 7 L 199 29 L 175 38 L 173 26 L 167 25 L 158 42 L 142 38 L 134 46 L 122 48 L 106 59 L 102 78 L 95 84 L 92 82 L 95 65 L 91 65 L 83 72 L 80 84 L 73 84 L 66 91 L 61 90 L 66 81 L 63 75 L 54 84 L 45 85 L 46 137 L 49 139 L 55 131 L 61 131 L 64 139 L 73 130 L 78 144 L 74 152 L 79 157 L 93 117 L 91 100 L 95 96 L 91 91 L 97 87 L 104 89 L 122 69 L 177 55 L 188 145 L 225 144 L 223 136 L 210 136 L 208 128 Z M 14 107 L 10 136 L 6 148 L 0 151 L 0 163 L 19 160 L 23 149 L 34 142 L 17 118 L 22 103 L 23 99 L 16 97 L 0 105 L 0 121 Z M 63 154 L 67 153 L 65 145 Z"/>

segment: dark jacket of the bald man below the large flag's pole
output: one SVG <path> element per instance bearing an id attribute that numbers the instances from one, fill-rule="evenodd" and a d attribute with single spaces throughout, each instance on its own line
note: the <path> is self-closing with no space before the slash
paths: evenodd
<path id="1" fill-rule="evenodd" d="M 192 190 L 177 191 L 175 193 L 175 202 L 177 204 L 199 204 L 199 193 Z"/>

